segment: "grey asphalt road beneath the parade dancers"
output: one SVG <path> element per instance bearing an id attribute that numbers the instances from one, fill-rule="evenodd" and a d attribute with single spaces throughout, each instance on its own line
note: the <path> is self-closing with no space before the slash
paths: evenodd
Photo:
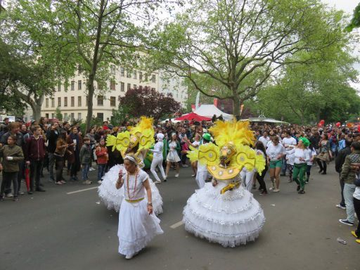
<path id="1" fill-rule="evenodd" d="M 338 221 L 346 215 L 335 207 L 340 188 L 333 164 L 329 167 L 326 176 L 312 169 L 304 195 L 287 177 L 281 178 L 280 193 L 259 196 L 254 191 L 266 224 L 254 243 L 238 248 L 208 243 L 176 225 L 197 187 L 191 169 L 181 168 L 179 179 L 171 176 L 159 186 L 164 234 L 131 260 L 117 253 L 118 214 L 99 203 L 98 184 L 56 186 L 43 180 L 45 193 L 0 203 L 0 270 L 360 269 L 360 245 L 350 235 L 354 227 Z M 96 172 L 90 175 L 95 180 Z M 86 188 L 93 189 L 68 194 Z M 347 245 L 338 243 L 338 237 Z"/>

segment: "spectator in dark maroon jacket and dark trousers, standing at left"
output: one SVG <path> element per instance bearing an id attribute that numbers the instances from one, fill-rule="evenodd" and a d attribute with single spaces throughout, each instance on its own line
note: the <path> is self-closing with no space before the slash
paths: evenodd
<path id="1" fill-rule="evenodd" d="M 44 192 L 44 189 L 41 188 L 40 183 L 40 174 L 41 167 L 44 163 L 45 157 L 45 140 L 41 136 L 41 127 L 36 125 L 33 127 L 32 136 L 26 141 L 25 145 L 25 160 L 26 164 L 30 165 L 30 191 L 29 194 L 34 192 L 34 182 L 35 182 L 35 191 Z"/>

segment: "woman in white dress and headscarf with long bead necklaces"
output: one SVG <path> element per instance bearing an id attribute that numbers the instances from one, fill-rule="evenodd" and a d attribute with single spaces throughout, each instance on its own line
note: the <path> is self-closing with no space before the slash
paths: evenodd
<path id="1" fill-rule="evenodd" d="M 120 171 L 115 187 L 124 186 L 119 212 L 119 253 L 131 259 L 158 234 L 163 233 L 160 219 L 153 214 L 148 174 L 137 166 L 134 155 L 124 158 L 125 172 Z"/>

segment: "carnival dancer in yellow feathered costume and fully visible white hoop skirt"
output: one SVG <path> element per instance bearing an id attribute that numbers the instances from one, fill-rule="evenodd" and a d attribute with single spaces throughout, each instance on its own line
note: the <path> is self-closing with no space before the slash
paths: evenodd
<path id="1" fill-rule="evenodd" d="M 186 231 L 224 247 L 255 240 L 265 222 L 264 212 L 252 193 L 240 184 L 240 171 L 265 167 L 262 155 L 250 148 L 255 137 L 248 122 L 216 122 L 210 129 L 216 141 L 191 148 L 188 158 L 207 165 L 212 183 L 195 191 L 184 207 Z"/>

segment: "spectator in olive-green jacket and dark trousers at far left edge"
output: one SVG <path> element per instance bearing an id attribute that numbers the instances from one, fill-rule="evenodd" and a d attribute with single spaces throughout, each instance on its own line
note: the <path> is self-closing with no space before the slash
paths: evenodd
<path id="1" fill-rule="evenodd" d="M 15 145 L 16 136 L 8 136 L 7 145 L 0 148 L 0 171 L 3 171 L 3 180 L 1 181 L 0 200 L 4 200 L 4 191 L 6 186 L 11 186 L 13 182 L 14 196 L 13 200 L 18 200 L 18 163 L 24 160 L 23 149 Z"/>

